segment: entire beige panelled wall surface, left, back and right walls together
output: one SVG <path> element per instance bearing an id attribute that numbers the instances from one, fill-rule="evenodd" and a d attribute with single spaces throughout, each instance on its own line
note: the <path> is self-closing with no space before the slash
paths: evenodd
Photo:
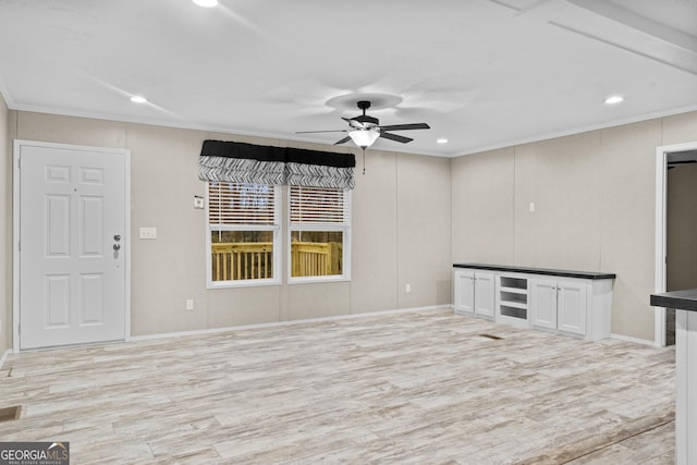
<path id="1" fill-rule="evenodd" d="M 350 282 L 207 290 L 205 212 L 193 208 L 205 193 L 201 142 L 288 142 L 8 111 L 2 102 L 0 348 L 12 345 L 13 138 L 131 150 L 131 236 L 158 228 L 157 241 L 132 243 L 133 335 L 449 304 L 451 264 L 480 261 L 615 272 L 613 332 L 651 340 L 656 147 L 697 140 L 697 112 L 452 160 L 369 150 L 366 174 L 356 151 Z"/>

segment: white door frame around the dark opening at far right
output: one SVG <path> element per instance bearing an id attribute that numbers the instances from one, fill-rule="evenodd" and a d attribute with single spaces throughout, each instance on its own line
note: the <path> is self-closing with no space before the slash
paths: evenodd
<path id="1" fill-rule="evenodd" d="M 665 292 L 667 281 L 667 209 L 668 209 L 668 155 L 675 151 L 697 150 L 697 140 L 656 147 L 656 246 L 655 284 L 656 293 Z M 653 345 L 665 346 L 665 307 L 653 307 Z"/>

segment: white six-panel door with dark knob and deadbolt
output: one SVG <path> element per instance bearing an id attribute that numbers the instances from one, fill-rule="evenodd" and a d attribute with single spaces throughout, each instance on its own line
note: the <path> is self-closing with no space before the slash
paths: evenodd
<path id="1" fill-rule="evenodd" d="M 125 339 L 126 150 L 15 142 L 20 348 Z"/>

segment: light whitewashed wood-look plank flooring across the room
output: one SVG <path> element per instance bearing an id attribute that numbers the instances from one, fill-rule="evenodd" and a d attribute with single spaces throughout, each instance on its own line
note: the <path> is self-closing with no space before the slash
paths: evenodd
<path id="1" fill-rule="evenodd" d="M 70 441 L 73 465 L 672 464 L 674 384 L 672 348 L 371 315 L 9 355 L 0 441 Z"/>

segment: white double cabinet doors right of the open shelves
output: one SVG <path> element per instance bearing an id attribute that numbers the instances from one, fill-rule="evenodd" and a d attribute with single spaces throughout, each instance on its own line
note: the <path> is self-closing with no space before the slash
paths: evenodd
<path id="1" fill-rule="evenodd" d="M 533 326 L 586 335 L 587 294 L 590 286 L 584 280 L 531 280 Z"/>

